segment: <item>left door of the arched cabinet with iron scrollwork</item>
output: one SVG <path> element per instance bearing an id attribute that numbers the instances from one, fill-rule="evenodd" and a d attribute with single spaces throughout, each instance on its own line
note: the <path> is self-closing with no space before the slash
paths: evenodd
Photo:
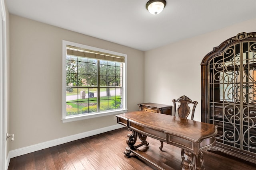
<path id="1" fill-rule="evenodd" d="M 232 45 L 209 64 L 210 123 L 218 125 L 216 141 L 240 149 L 240 48 Z"/>

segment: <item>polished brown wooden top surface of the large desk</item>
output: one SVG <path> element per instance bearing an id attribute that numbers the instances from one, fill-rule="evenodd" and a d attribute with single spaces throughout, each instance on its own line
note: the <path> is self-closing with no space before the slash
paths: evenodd
<path id="1" fill-rule="evenodd" d="M 182 119 L 171 115 L 134 111 L 116 116 L 170 135 L 186 137 L 186 139 L 193 142 L 200 142 L 217 134 L 216 125 Z"/>

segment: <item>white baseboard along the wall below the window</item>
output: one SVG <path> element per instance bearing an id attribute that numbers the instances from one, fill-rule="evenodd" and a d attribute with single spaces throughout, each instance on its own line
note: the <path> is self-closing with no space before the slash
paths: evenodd
<path id="1" fill-rule="evenodd" d="M 95 129 L 95 130 L 92 130 L 92 131 L 87 131 L 87 132 L 84 132 L 84 133 L 78 133 L 76 135 L 71 135 L 71 136 L 68 136 L 68 137 L 62 137 L 62 138 L 59 138 L 59 139 L 54 139 L 52 141 L 38 143 L 36 145 L 31 145 L 31 146 L 28 146 L 28 147 L 23 147 L 23 148 L 19 148 L 19 149 L 15 149 L 15 150 L 10 150 L 9 153 L 8 153 L 8 156 L 7 156 L 7 162 L 6 162 L 7 166 L 6 167 L 9 166 L 10 159 L 14 158 L 16 156 L 20 156 L 20 155 L 23 155 L 23 154 L 28 154 L 28 153 L 35 152 L 35 151 L 41 150 L 41 149 L 46 149 L 46 148 L 49 148 L 49 147 L 54 147 L 56 145 L 60 145 L 60 144 L 63 144 L 63 143 L 75 141 L 75 140 L 82 139 L 82 138 L 85 138 L 85 137 L 98 135 L 100 133 L 112 131 L 112 130 L 115 130 L 115 129 L 120 129 L 122 127 L 124 127 L 124 126 L 120 125 L 120 124 L 116 124 L 116 125 L 112 125 L 112 126 L 108 126 L 108 127 L 104 127 L 104 128 L 100 128 L 100 129 Z"/>

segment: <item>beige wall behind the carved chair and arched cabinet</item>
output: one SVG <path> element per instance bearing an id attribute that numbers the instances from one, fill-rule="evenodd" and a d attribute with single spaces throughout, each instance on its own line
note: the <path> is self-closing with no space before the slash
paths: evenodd
<path id="1" fill-rule="evenodd" d="M 194 120 L 201 121 L 200 63 L 213 47 L 240 32 L 256 32 L 256 18 L 146 51 L 144 102 L 173 105 L 173 99 L 186 95 L 198 101 Z"/>

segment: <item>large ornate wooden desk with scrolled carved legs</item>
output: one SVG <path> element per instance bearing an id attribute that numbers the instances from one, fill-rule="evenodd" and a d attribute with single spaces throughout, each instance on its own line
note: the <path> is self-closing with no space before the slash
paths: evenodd
<path id="1" fill-rule="evenodd" d="M 182 160 L 182 170 L 204 169 L 202 151 L 210 149 L 215 144 L 216 125 L 146 111 L 134 111 L 116 117 L 117 123 L 132 131 L 127 135 L 128 147 L 124 154 L 129 156 L 132 152 L 157 169 L 166 169 L 166 164 L 159 165 L 152 158 L 148 158 L 146 152 L 138 149 L 143 145 L 148 147 L 147 136 L 184 149 L 188 158 Z M 141 143 L 134 146 L 137 137 Z"/>

